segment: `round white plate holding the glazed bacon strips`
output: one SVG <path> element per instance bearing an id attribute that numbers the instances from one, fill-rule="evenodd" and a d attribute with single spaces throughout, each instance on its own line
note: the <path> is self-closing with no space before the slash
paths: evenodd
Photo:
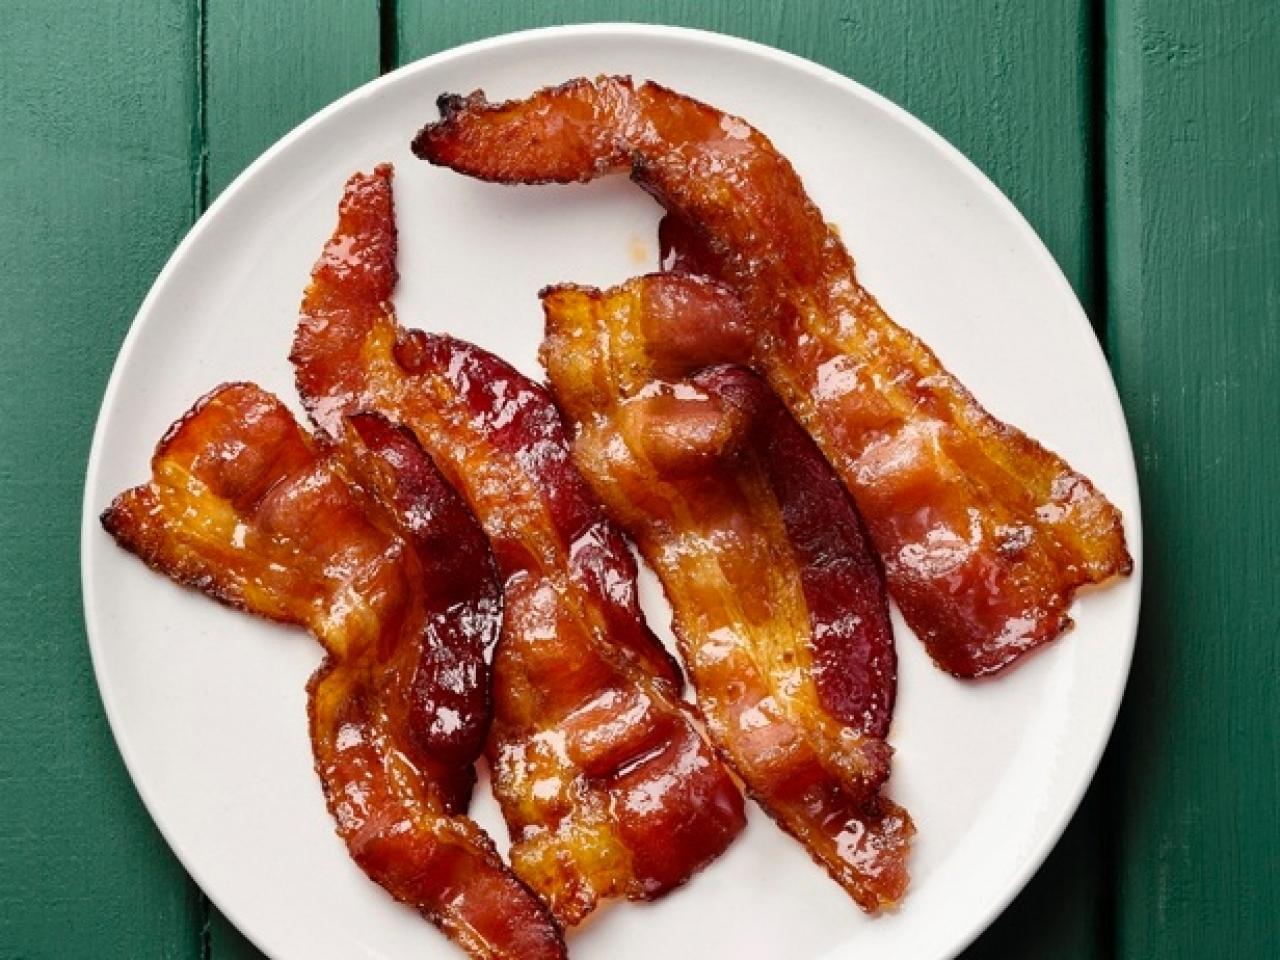
<path id="1" fill-rule="evenodd" d="M 200 394 L 251 379 L 297 408 L 285 360 L 342 183 L 397 165 L 408 325 L 443 329 L 540 376 L 535 292 L 652 269 L 658 207 L 626 178 L 499 188 L 415 160 L 442 91 L 524 95 L 631 73 L 741 114 L 792 159 L 863 282 L 1000 417 L 1094 479 L 1140 554 L 1124 417 L 1093 333 L 1014 206 L 937 134 L 812 63 L 740 40 L 594 26 L 429 58 L 321 111 L 255 163 L 160 274 L 115 364 L 90 457 L 84 612 L 106 712 L 151 815 L 209 897 L 274 957 L 417 957 L 448 947 L 348 859 L 311 769 L 303 685 L 320 648 L 150 573 L 97 525 L 146 477 Z M 668 612 L 648 580 L 650 621 Z M 959 952 L 1036 870 L 1075 810 L 1128 675 L 1138 576 L 1093 591 L 1076 628 L 996 681 L 934 669 L 896 622 L 892 795 L 919 828 L 901 909 L 870 919 L 756 809 L 745 836 L 655 905 L 616 904 L 571 937 L 581 960 L 773 960 Z M 488 791 L 477 818 L 504 841 Z"/>

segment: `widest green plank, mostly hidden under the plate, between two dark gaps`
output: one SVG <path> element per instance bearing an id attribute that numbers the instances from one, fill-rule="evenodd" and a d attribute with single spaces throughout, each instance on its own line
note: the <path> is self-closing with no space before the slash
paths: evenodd
<path id="1" fill-rule="evenodd" d="M 1098 278 L 1088 10 L 1084 0 L 398 0 L 394 45 L 398 61 L 408 63 L 530 27 L 643 20 L 732 33 L 808 56 L 884 93 L 959 146 L 1012 197 L 1092 306 Z M 1098 884 L 1098 792 L 1091 791 L 1064 842 L 969 960 L 1101 954 L 1110 931 Z"/>

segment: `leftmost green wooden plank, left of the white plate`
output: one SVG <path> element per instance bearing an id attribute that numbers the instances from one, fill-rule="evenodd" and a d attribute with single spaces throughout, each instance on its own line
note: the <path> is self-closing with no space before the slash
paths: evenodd
<path id="1" fill-rule="evenodd" d="M 184 0 L 0 8 L 0 955 L 197 957 L 198 901 L 120 764 L 84 640 L 84 461 L 195 215 Z"/>

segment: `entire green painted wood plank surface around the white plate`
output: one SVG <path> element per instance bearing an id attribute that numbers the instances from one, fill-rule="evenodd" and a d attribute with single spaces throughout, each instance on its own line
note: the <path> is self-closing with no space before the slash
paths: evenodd
<path id="1" fill-rule="evenodd" d="M 1014 198 L 1105 334 L 1146 498 L 1138 662 L 1080 814 L 966 957 L 1274 955 L 1280 18 L 1267 0 L 1105 6 L 0 5 L 0 960 L 257 956 L 128 785 L 78 608 L 93 413 L 165 256 L 262 148 L 379 65 L 602 19 L 759 40 L 902 104 Z"/>

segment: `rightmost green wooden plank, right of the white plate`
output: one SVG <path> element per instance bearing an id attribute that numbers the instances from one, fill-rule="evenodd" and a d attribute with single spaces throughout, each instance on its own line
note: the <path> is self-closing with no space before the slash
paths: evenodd
<path id="1" fill-rule="evenodd" d="M 1280 17 L 1112 0 L 1111 356 L 1142 475 L 1119 954 L 1280 948 Z"/>

